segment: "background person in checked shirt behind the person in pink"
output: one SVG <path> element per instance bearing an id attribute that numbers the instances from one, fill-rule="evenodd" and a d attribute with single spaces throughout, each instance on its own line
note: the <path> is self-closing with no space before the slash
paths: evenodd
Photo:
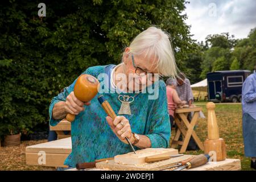
<path id="1" fill-rule="evenodd" d="M 179 98 L 183 101 L 186 101 L 189 107 L 193 106 L 193 93 L 188 78 L 185 77 L 184 73 L 179 73 L 176 81 L 176 91 Z"/>

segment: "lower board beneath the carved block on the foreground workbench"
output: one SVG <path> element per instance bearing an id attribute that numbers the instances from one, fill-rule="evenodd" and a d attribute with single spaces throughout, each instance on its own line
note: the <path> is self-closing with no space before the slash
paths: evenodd
<path id="1" fill-rule="evenodd" d="M 177 158 L 171 158 L 167 160 L 162 160 L 154 163 L 144 163 L 144 164 L 118 164 L 114 160 L 109 160 L 108 162 L 96 163 L 96 168 L 100 169 L 110 169 L 114 171 L 158 171 L 165 167 L 174 166 L 182 160 L 187 160 L 191 158 L 191 155 L 183 155 Z"/>

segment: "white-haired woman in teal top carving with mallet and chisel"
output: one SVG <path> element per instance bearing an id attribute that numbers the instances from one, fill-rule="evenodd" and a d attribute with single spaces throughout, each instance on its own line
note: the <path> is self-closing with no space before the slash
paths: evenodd
<path id="1" fill-rule="evenodd" d="M 98 78 L 103 96 L 118 116 L 114 121 L 107 117 L 97 101 L 100 93 L 90 103 L 79 101 L 73 93 L 76 80 L 54 97 L 49 106 L 50 125 L 57 125 L 68 113 L 76 115 L 71 123 L 72 152 L 65 165 L 75 167 L 76 163 L 131 152 L 125 137 L 135 150 L 168 147 L 171 131 L 166 86 L 158 76 L 176 76 L 176 64 L 166 33 L 150 27 L 125 48 L 121 64 L 90 67 L 82 74 Z M 123 75 L 126 81 L 120 79 Z M 154 99 L 149 99 L 149 88 L 158 91 Z M 123 110 L 123 104 L 130 110 Z"/>

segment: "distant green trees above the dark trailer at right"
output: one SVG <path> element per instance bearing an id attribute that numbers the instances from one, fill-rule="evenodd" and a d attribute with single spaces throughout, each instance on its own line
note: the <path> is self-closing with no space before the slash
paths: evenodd
<path id="1" fill-rule="evenodd" d="M 204 79 L 208 72 L 249 69 L 256 64 L 256 28 L 250 31 L 248 38 L 234 39 L 229 33 L 208 35 L 205 39 L 201 75 Z"/>

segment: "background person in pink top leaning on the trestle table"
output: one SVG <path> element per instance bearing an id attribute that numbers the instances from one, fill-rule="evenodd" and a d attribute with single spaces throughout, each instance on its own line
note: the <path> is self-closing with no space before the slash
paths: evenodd
<path id="1" fill-rule="evenodd" d="M 186 101 L 181 101 L 176 90 L 177 83 L 176 80 L 173 78 L 168 78 L 166 81 L 166 95 L 167 95 L 167 102 L 168 102 L 168 110 L 169 110 L 169 116 L 170 116 L 170 123 L 171 128 L 174 124 L 174 113 L 177 105 L 185 105 Z"/>

